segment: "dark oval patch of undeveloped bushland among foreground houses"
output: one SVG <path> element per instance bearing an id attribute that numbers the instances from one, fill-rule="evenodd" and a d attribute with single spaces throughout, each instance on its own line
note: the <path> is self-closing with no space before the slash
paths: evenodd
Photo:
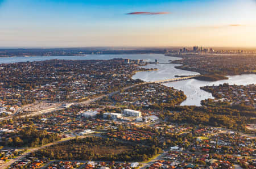
<path id="1" fill-rule="evenodd" d="M 158 147 L 131 145 L 109 138 L 87 137 L 47 147 L 32 156 L 61 160 L 143 161 L 159 152 Z"/>

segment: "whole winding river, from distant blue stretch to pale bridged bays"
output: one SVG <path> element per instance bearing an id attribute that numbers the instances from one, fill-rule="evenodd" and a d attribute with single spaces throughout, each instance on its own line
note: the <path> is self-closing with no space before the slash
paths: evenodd
<path id="1" fill-rule="evenodd" d="M 34 56 L 34 57 L 3 57 L 0 58 L 0 64 L 10 64 L 14 62 L 27 62 L 27 61 L 44 61 L 44 60 L 110 60 L 112 58 L 129 58 L 132 60 L 142 59 L 144 61 L 155 61 L 158 62 L 168 62 L 169 60 L 179 60 L 177 57 L 168 57 L 163 54 L 100 54 L 93 55 L 88 54 L 87 56 Z M 187 70 L 176 69 L 175 66 L 178 64 L 150 64 L 143 67 L 146 68 L 156 68 L 158 71 L 144 71 L 138 72 L 133 76 L 133 79 L 141 79 L 142 81 L 159 81 L 164 79 L 175 78 L 175 75 L 197 75 L 199 73 Z M 187 100 L 185 100 L 181 105 L 200 105 L 201 100 L 212 98 L 212 94 L 209 92 L 200 90 L 201 86 L 218 85 L 223 83 L 229 84 L 255 84 L 256 74 L 245 74 L 230 76 L 228 80 L 207 82 L 198 81 L 196 79 L 188 79 L 185 81 L 165 83 L 165 86 L 174 87 L 178 90 L 184 91 L 187 95 Z"/>

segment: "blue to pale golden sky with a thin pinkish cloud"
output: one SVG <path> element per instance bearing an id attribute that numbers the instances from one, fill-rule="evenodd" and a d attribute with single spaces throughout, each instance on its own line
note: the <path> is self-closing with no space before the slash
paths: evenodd
<path id="1" fill-rule="evenodd" d="M 0 0 L 0 47 L 256 47 L 256 0 Z"/>

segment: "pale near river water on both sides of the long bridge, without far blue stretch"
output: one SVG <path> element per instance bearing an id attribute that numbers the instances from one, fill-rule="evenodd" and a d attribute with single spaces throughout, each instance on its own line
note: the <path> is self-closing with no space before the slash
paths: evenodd
<path id="1" fill-rule="evenodd" d="M 139 72 L 133 76 L 134 79 L 142 79 L 143 81 L 152 82 L 159 81 L 162 79 L 174 78 L 175 75 L 194 75 L 198 74 L 192 71 L 184 71 L 175 68 L 176 64 L 159 64 L 159 65 L 147 65 L 144 67 L 147 68 L 157 68 L 159 71 L 150 71 L 150 72 Z M 237 85 L 246 85 L 246 84 L 255 84 L 256 83 L 256 74 L 245 74 L 245 75 L 236 75 L 229 76 L 228 80 L 216 81 L 216 82 L 207 82 L 207 81 L 198 81 L 196 79 L 188 79 L 185 81 L 165 83 L 165 86 L 174 87 L 178 90 L 184 91 L 184 94 L 187 96 L 181 105 L 200 105 L 201 100 L 204 99 L 214 99 L 212 94 L 209 92 L 203 91 L 200 89 L 201 86 L 212 86 L 219 85 L 223 83 L 237 84 Z"/>

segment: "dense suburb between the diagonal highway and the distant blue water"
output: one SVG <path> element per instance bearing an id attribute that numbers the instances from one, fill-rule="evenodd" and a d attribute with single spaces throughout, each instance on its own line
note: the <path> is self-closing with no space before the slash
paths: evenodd
<path id="1" fill-rule="evenodd" d="M 114 59 L 2 64 L 1 103 L 11 109 L 34 103 L 35 100 L 81 102 L 117 87 L 138 83 L 130 78 L 131 75 L 146 69 L 138 67 L 143 62 L 133 62 L 125 64 L 124 60 Z M 69 71 L 71 68 L 72 71 Z"/>

